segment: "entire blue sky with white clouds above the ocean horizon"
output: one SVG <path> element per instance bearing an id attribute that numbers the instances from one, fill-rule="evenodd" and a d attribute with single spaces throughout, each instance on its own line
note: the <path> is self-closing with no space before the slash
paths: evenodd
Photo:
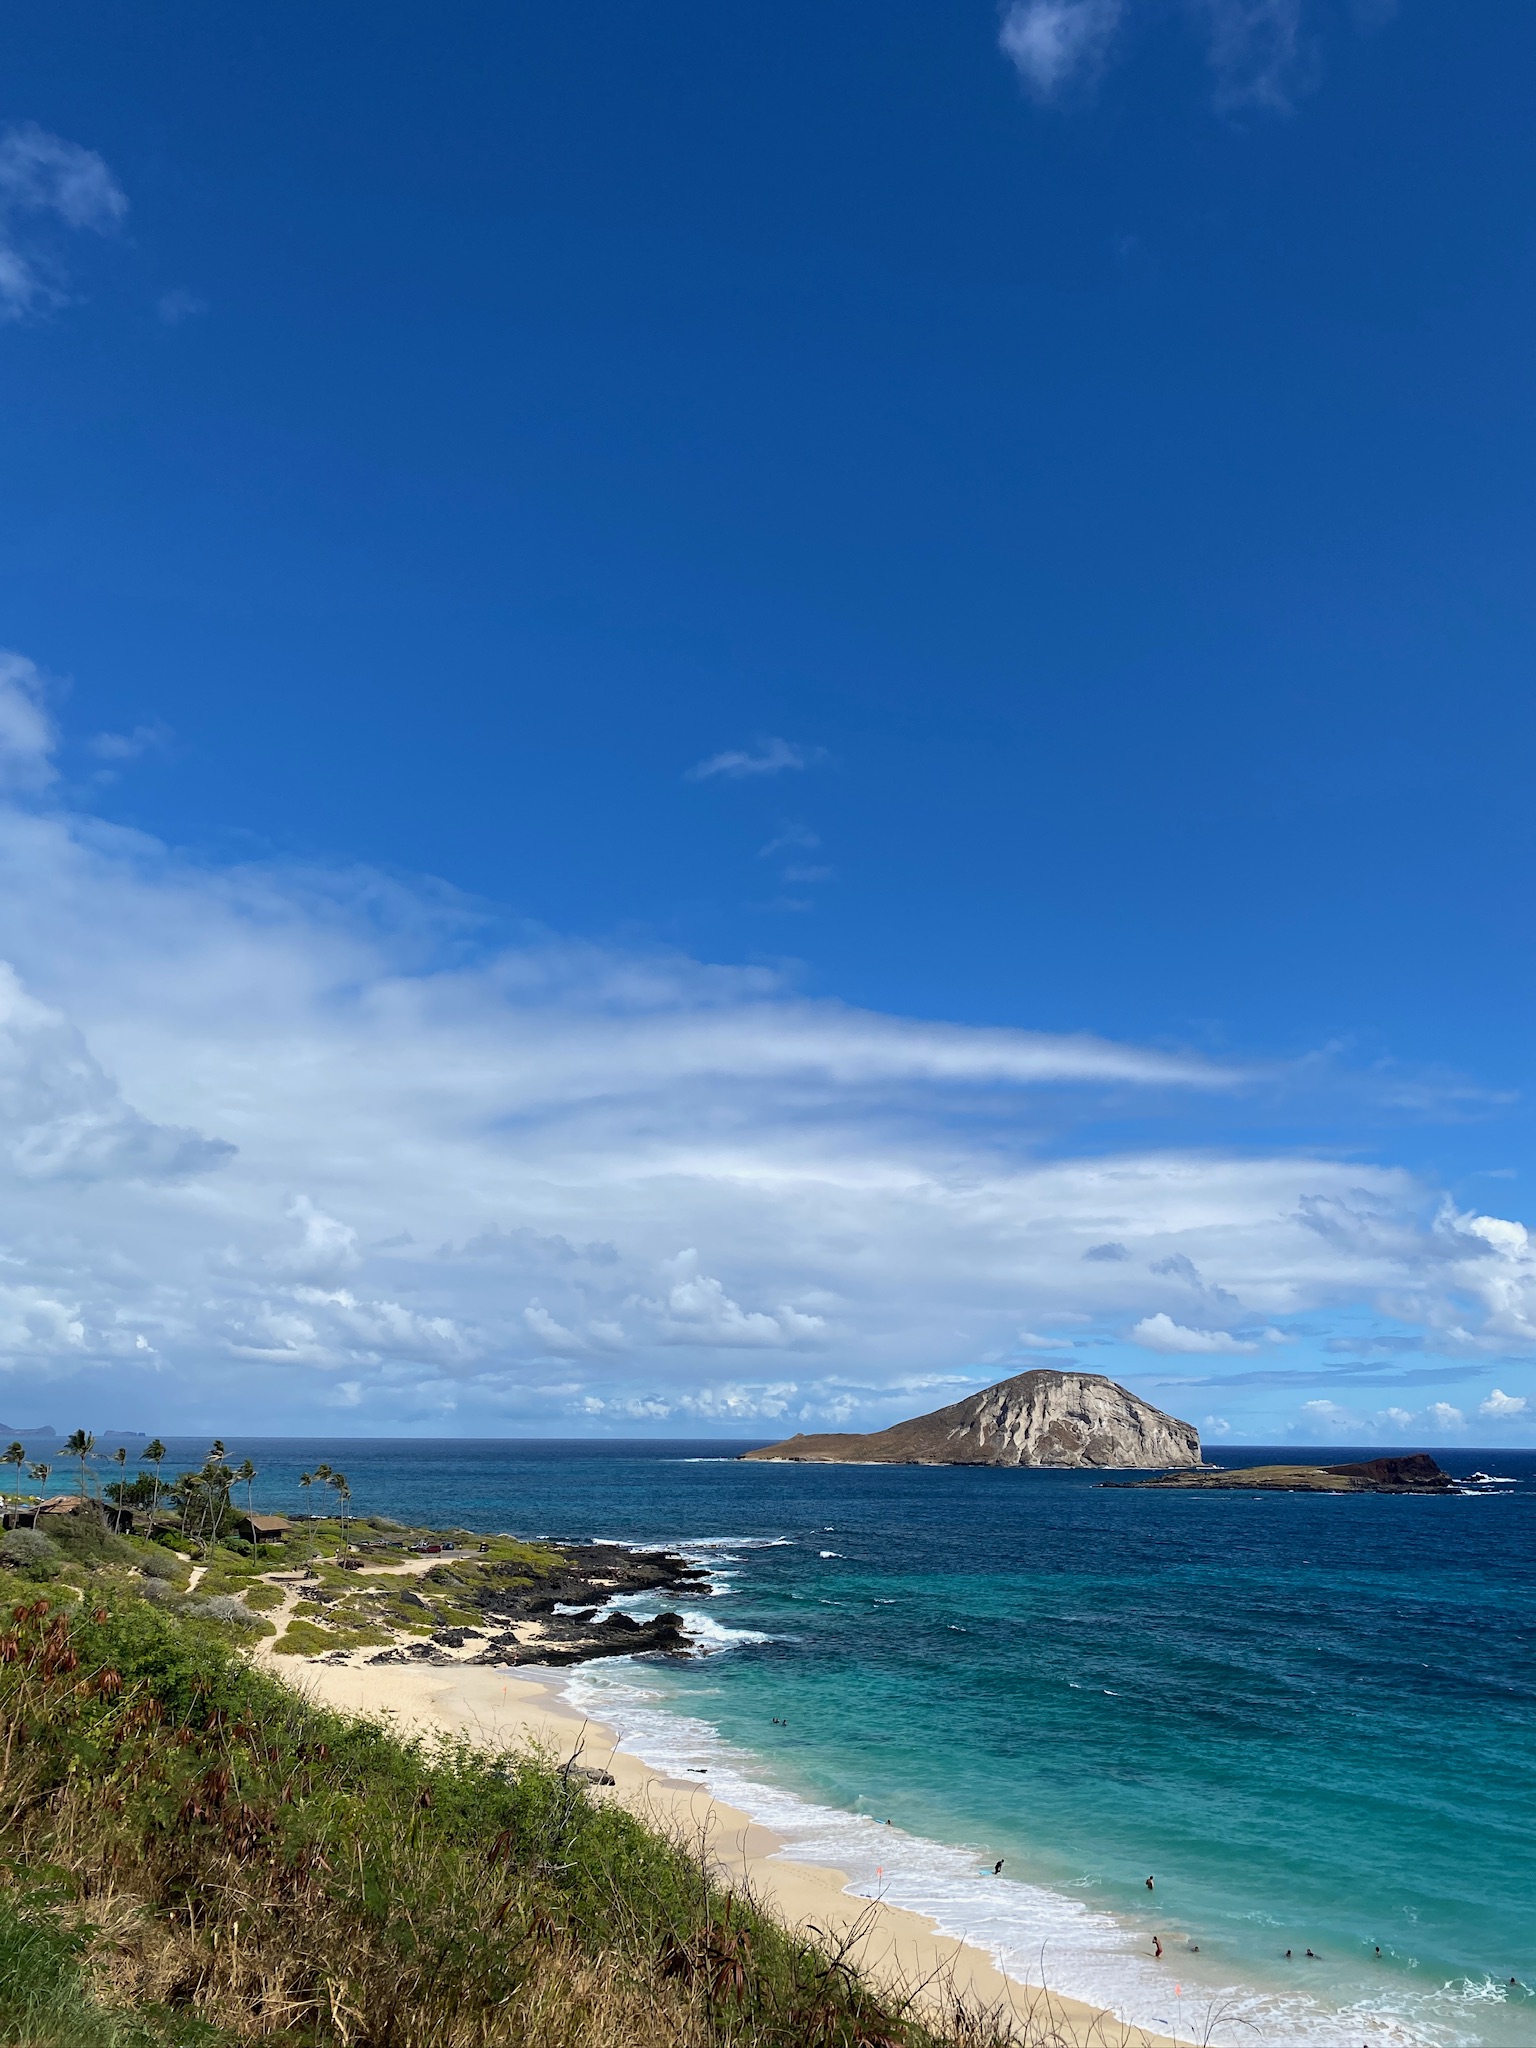
<path id="1" fill-rule="evenodd" d="M 0 53 L 0 1427 L 1536 1444 L 1536 14 Z"/>

